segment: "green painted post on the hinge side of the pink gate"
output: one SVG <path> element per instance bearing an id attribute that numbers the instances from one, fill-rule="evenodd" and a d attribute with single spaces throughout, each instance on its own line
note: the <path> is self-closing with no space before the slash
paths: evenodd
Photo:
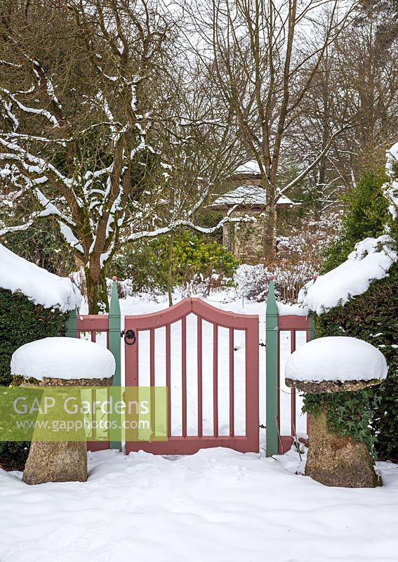
<path id="1" fill-rule="evenodd" d="M 278 368 L 278 308 L 272 277 L 265 312 L 265 446 L 267 457 L 278 454 Z"/>

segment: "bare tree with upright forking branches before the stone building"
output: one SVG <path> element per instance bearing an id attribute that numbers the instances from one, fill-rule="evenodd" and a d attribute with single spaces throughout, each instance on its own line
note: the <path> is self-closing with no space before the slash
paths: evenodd
<path id="1" fill-rule="evenodd" d="M 312 161 L 296 178 L 281 181 L 288 132 L 327 48 L 350 22 L 354 3 L 338 0 L 209 0 L 192 9 L 190 42 L 234 113 L 246 154 L 260 169 L 267 192 L 264 249 L 274 250 L 276 203 L 321 161 L 347 124 L 331 128 Z M 203 14 L 203 15 L 199 15 Z M 207 48 L 204 48 L 204 45 Z M 302 155 L 299 159 L 303 162 Z"/>

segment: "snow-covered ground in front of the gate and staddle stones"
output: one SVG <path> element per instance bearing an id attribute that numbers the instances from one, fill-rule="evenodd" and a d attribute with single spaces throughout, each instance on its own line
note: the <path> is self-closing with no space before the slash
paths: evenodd
<path id="1" fill-rule="evenodd" d="M 0 470 L 1 562 L 397 562 L 398 466 L 326 488 L 298 455 L 89 454 L 86 483 Z"/>

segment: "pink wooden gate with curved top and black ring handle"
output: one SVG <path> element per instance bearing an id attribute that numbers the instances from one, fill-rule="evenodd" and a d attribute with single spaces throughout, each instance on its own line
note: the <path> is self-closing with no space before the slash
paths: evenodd
<path id="1" fill-rule="evenodd" d="M 187 393 L 190 380 L 187 377 L 187 316 L 194 314 L 197 318 L 197 435 L 188 435 L 187 431 Z M 213 325 L 213 431 L 204 435 L 203 429 L 203 322 Z M 171 350 L 173 337 L 171 327 L 180 322 L 181 336 L 181 403 L 182 435 L 173 435 L 171 428 Z M 142 385 L 140 381 L 140 334 L 149 332 L 150 386 L 157 384 L 155 374 L 155 332 L 166 329 L 164 353 L 166 357 L 166 386 L 168 389 L 168 440 L 167 441 L 128 441 L 126 454 L 131 451 L 145 450 L 160 455 L 189 455 L 207 447 L 231 447 L 241 452 L 258 452 L 259 450 L 259 407 L 258 407 L 258 316 L 234 314 L 220 311 L 201 299 L 184 299 L 159 313 L 126 316 L 124 325 L 126 338 L 126 386 Z M 229 332 L 229 426 L 228 436 L 219 435 L 218 424 L 218 328 L 227 328 Z M 245 417 L 244 434 L 234 431 L 234 331 L 241 330 L 245 336 Z M 148 358 L 147 358 L 148 359 Z M 239 373 L 241 376 L 241 373 Z"/>

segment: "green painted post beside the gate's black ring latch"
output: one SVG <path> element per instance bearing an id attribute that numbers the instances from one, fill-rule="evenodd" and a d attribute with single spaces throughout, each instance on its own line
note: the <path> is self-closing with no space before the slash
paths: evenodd
<path id="1" fill-rule="evenodd" d="M 112 396 L 114 403 L 121 400 L 121 316 L 120 316 L 120 304 L 119 296 L 117 294 L 117 277 L 112 277 L 112 294 L 110 300 L 110 313 L 108 317 L 108 329 L 109 329 L 109 346 L 114 360 L 116 362 L 116 367 L 114 371 L 112 386 Z M 119 390 L 118 390 L 119 389 Z M 119 396 L 120 395 L 120 396 Z M 120 414 L 112 413 L 112 421 L 116 421 L 117 426 L 121 424 Z M 110 431 L 110 449 L 121 450 L 121 440 L 120 440 L 120 429 L 112 435 L 112 430 Z"/>

